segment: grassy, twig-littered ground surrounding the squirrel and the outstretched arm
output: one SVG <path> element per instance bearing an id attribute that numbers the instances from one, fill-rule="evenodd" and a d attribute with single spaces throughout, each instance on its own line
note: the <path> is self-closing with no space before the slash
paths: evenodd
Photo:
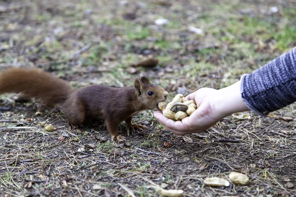
<path id="1" fill-rule="evenodd" d="M 4 0 L 0 69 L 39 67 L 71 83 L 132 86 L 144 71 L 170 93 L 221 89 L 296 45 L 294 0 Z M 168 20 L 155 25 L 156 19 Z M 189 27 L 202 32 L 193 33 Z M 132 68 L 148 57 L 153 68 Z M 157 197 L 154 186 L 184 196 L 296 195 L 296 105 L 267 117 L 247 112 L 191 135 L 166 131 L 152 111 L 119 132 L 104 122 L 68 130 L 59 107 L 0 96 L 0 197 Z M 44 127 L 52 124 L 55 131 Z M 204 185 L 207 177 L 247 174 L 247 186 Z M 131 191 L 131 192 L 127 192 Z"/>

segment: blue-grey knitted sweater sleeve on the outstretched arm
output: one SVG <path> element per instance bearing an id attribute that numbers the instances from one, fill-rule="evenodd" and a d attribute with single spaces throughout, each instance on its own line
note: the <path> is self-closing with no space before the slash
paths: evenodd
<path id="1" fill-rule="evenodd" d="M 296 101 L 296 48 L 241 77 L 241 95 L 259 115 Z"/>

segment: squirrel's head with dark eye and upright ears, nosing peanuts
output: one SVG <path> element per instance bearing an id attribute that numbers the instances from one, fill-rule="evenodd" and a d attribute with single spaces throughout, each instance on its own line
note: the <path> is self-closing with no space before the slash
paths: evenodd
<path id="1" fill-rule="evenodd" d="M 150 83 L 146 76 L 135 79 L 135 94 L 146 109 L 159 110 L 158 103 L 165 101 L 169 93 L 162 87 Z"/>

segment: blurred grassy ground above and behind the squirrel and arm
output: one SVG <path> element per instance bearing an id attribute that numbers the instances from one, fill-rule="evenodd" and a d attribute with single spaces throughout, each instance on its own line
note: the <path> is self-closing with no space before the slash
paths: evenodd
<path id="1" fill-rule="evenodd" d="M 296 44 L 295 0 L 5 0 L 0 68 L 40 67 L 73 86 L 172 94 L 222 88 Z M 154 58 L 158 64 L 137 65 Z M 134 67 L 133 67 L 134 66 Z"/>

